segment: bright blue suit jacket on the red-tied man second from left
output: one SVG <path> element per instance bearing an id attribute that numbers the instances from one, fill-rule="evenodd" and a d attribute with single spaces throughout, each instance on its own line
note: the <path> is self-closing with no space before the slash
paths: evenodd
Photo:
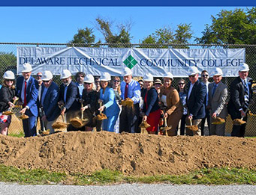
<path id="1" fill-rule="evenodd" d="M 17 78 L 17 96 L 21 100 L 21 90 L 23 89 L 23 81 L 24 77 L 20 76 Z M 29 110 L 32 112 L 32 114 L 35 117 L 38 117 L 38 106 L 37 106 L 37 100 L 38 100 L 38 81 L 35 80 L 32 76 L 29 78 L 29 83 L 27 84 L 27 90 L 26 90 L 26 100 L 27 105 L 29 106 Z"/>

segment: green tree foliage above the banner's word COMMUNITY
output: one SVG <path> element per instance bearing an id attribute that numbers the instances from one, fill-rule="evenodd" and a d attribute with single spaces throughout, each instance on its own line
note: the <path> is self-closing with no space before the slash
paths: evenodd
<path id="1" fill-rule="evenodd" d="M 180 24 L 177 25 L 175 31 L 171 28 L 160 28 L 156 30 L 154 33 L 150 34 L 146 37 L 142 43 L 144 44 L 142 47 L 155 47 L 158 48 L 168 48 L 168 44 L 186 44 L 189 43 L 192 37 L 191 25 L 189 24 Z M 152 45 L 146 45 L 152 44 Z M 155 45 L 154 45 L 155 44 Z M 188 48 L 187 46 L 172 46 L 173 48 Z"/>

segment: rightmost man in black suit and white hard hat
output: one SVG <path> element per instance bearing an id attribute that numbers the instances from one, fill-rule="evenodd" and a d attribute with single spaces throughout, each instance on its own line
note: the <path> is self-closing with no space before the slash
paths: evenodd
<path id="1" fill-rule="evenodd" d="M 247 121 L 248 105 L 252 99 L 252 79 L 248 77 L 248 64 L 239 66 L 239 76 L 230 84 L 230 101 L 227 105 L 228 114 L 232 120 Z M 231 136 L 245 137 L 246 123 L 241 126 L 233 125 Z"/>

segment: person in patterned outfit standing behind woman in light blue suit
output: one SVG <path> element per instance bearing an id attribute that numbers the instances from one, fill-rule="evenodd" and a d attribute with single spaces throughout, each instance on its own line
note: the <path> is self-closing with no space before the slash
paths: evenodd
<path id="1" fill-rule="evenodd" d="M 120 82 L 121 82 L 121 79 L 119 78 L 119 76 L 115 76 L 113 78 L 112 88 L 113 88 L 115 96 L 116 96 L 116 103 L 117 103 L 117 105 L 119 105 L 119 102 L 121 102 L 121 100 L 122 100 L 122 98 L 121 98 L 121 90 L 120 90 Z M 119 106 L 119 108 L 122 108 L 122 107 Z M 119 117 L 116 120 L 116 125 L 114 126 L 114 131 L 116 133 L 119 133 Z"/>

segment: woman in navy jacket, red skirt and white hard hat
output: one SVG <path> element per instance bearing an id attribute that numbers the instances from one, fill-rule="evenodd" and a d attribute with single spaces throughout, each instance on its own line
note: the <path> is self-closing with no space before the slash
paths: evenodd
<path id="1" fill-rule="evenodd" d="M 154 78 L 152 74 L 147 73 L 143 76 L 143 83 L 146 90 L 143 90 L 143 121 L 149 123 L 150 127 L 146 129 L 149 134 L 155 134 L 158 131 L 158 123 L 161 116 L 160 106 L 158 104 L 158 92 L 153 87 Z"/>

